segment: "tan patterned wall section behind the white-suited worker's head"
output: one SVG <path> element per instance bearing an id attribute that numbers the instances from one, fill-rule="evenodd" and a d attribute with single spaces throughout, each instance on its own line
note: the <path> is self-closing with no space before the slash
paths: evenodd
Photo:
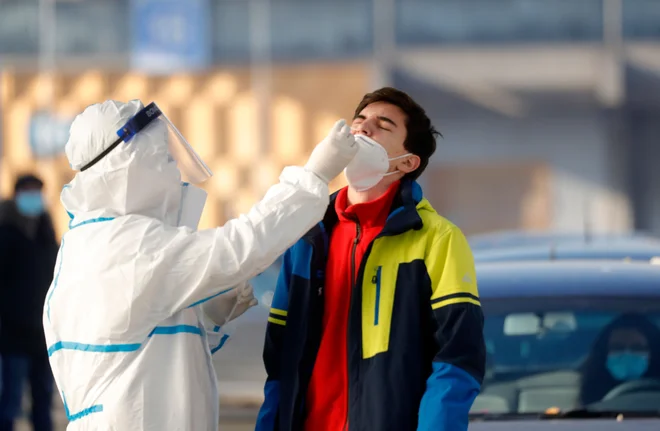
<path id="1" fill-rule="evenodd" d="M 247 211 L 277 181 L 284 166 L 302 165 L 337 118 L 352 113 L 367 88 L 360 64 L 274 68 L 270 109 L 265 114 L 271 127 L 268 145 L 263 146 L 260 134 L 268 123 L 262 120 L 250 72 L 244 68 L 164 77 L 97 70 L 56 75 L 4 72 L 1 76 L 3 195 L 11 191 L 17 175 L 36 171 L 47 183 L 49 202 L 57 205 L 62 186 L 74 176 L 61 151 L 34 157 L 39 145 L 35 140 L 41 136 L 30 124 L 46 108 L 40 95 L 49 86 L 54 102 L 47 107 L 65 125 L 97 101 L 154 100 L 215 173 L 204 184 L 209 192 L 201 220 L 204 227 Z M 63 139 L 66 143 L 66 133 Z M 63 210 L 55 209 L 53 217 L 61 234 L 69 220 Z"/>

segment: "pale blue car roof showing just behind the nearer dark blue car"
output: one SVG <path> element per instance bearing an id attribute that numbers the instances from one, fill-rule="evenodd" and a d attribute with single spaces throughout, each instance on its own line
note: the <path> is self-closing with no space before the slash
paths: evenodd
<path id="1" fill-rule="evenodd" d="M 590 243 L 527 245 L 474 251 L 477 263 L 538 260 L 634 260 L 649 262 L 660 256 L 660 242 L 619 240 Z"/>

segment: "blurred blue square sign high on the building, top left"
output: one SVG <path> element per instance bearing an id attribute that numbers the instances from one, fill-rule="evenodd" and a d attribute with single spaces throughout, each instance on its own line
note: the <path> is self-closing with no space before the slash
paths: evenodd
<path id="1" fill-rule="evenodd" d="M 132 0 L 132 67 L 153 73 L 207 67 L 210 19 L 209 0 Z"/>

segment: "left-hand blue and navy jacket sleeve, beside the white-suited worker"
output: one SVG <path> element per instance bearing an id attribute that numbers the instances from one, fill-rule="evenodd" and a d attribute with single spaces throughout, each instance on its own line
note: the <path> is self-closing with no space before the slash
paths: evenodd
<path id="1" fill-rule="evenodd" d="M 282 258 L 282 267 L 268 316 L 263 353 L 264 366 L 268 377 L 264 386 L 264 403 L 259 410 L 255 431 L 275 431 L 277 429 L 277 411 L 280 402 L 280 358 L 288 314 L 289 282 L 293 271 L 293 248 L 289 249 Z"/>

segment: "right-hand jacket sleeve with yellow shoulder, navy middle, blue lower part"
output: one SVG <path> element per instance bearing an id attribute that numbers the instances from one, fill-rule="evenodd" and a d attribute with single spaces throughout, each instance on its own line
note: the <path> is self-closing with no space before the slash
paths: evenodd
<path id="1" fill-rule="evenodd" d="M 474 259 L 458 228 L 432 243 L 426 266 L 438 347 L 420 404 L 418 431 L 466 431 L 483 381 L 486 347 Z"/>

